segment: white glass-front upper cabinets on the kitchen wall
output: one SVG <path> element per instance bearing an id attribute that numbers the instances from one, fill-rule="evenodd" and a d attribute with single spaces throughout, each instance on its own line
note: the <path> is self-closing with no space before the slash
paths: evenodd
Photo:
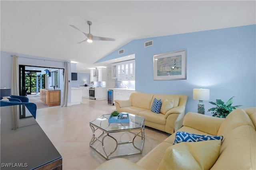
<path id="1" fill-rule="evenodd" d="M 135 80 L 135 60 L 112 64 L 112 78 L 118 81 Z"/>

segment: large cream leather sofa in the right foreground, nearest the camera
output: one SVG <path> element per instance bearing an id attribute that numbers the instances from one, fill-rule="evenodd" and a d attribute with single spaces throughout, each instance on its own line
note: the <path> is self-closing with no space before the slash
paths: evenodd
<path id="1" fill-rule="evenodd" d="M 233 110 L 226 119 L 188 112 L 183 127 L 178 131 L 202 135 L 222 135 L 220 153 L 210 168 L 212 170 L 255 170 L 256 169 L 256 107 Z M 146 134 L 145 134 L 146 135 Z M 97 170 L 156 170 L 166 149 L 172 146 L 175 133 L 156 146 L 136 164 L 124 158 L 108 160 Z M 187 142 L 182 142 L 187 143 Z M 191 143 L 191 142 L 190 142 Z M 199 142 L 197 142 L 199 143 Z M 177 144 L 175 144 L 177 145 Z M 175 146 L 173 145 L 173 146 Z M 210 156 L 210 155 L 209 155 Z M 202 158 L 204 159 L 204 158 Z M 210 160 L 210 159 L 208 159 Z M 169 160 L 171 161 L 171 160 Z M 172 164 L 173 162 L 169 162 Z M 184 160 L 189 164 L 189 160 Z M 171 168 L 159 168 L 171 169 Z M 183 168 L 180 168 L 183 169 Z M 204 169 L 202 167 L 201 169 Z"/>

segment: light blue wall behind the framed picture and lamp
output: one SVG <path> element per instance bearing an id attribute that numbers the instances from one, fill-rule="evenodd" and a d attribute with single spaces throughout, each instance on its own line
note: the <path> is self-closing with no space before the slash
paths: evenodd
<path id="1" fill-rule="evenodd" d="M 160 31 L 160 30 L 159 30 Z M 153 46 L 144 48 L 146 41 Z M 210 101 L 256 106 L 256 25 L 137 39 L 98 62 L 135 54 L 135 90 L 157 94 L 188 95 L 186 113 L 197 112 L 193 88 L 209 88 Z M 158 80 L 153 76 L 153 55 L 187 49 L 187 79 Z M 204 101 L 207 110 L 214 105 Z"/>

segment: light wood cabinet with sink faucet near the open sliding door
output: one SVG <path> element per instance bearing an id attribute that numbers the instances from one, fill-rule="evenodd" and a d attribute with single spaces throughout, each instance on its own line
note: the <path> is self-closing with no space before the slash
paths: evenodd
<path id="1" fill-rule="evenodd" d="M 40 89 L 40 100 L 48 106 L 59 106 L 60 90 Z"/>

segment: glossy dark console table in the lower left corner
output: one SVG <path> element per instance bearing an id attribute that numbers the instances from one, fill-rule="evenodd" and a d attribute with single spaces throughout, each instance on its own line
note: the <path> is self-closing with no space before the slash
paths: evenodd
<path id="1" fill-rule="evenodd" d="M 0 169 L 62 170 L 62 156 L 34 117 L 26 118 L 30 124 L 12 130 L 11 107 L 0 107 Z"/>

